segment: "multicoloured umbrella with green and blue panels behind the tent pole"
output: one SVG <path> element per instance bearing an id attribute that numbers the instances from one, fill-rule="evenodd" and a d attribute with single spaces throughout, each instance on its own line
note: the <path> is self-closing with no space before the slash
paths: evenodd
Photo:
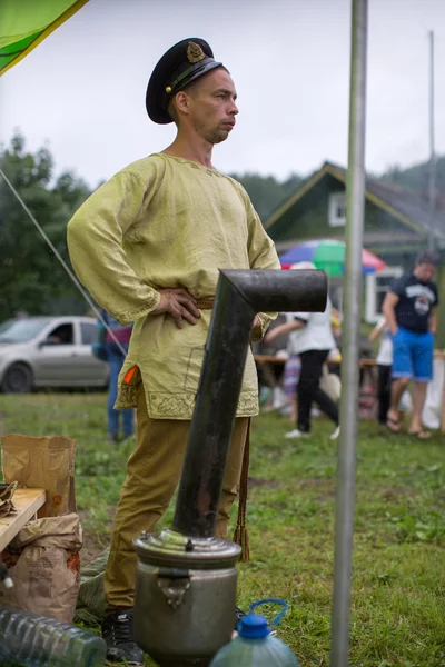
<path id="1" fill-rule="evenodd" d="M 323 269 L 328 276 L 343 276 L 345 272 L 345 243 L 329 239 L 306 241 L 294 246 L 280 256 L 284 269 L 299 261 L 312 261 L 317 269 Z M 362 250 L 362 266 L 364 273 L 382 271 L 386 263 L 369 250 Z"/>

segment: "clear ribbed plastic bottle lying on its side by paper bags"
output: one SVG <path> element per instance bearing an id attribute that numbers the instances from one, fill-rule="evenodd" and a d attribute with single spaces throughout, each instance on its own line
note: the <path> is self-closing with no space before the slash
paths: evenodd
<path id="1" fill-rule="evenodd" d="M 72 625 L 0 608 L 0 664 L 26 667 L 102 667 L 103 639 Z"/>

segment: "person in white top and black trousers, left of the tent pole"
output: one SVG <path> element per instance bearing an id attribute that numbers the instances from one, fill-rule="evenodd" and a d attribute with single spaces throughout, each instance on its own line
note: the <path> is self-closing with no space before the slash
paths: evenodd
<path id="1" fill-rule="evenodd" d="M 312 262 L 299 262 L 293 269 L 315 269 Z M 293 354 L 299 355 L 301 370 L 298 382 L 298 418 L 297 428 L 286 434 L 287 438 L 300 438 L 310 432 L 310 410 L 316 402 L 320 410 L 336 425 L 333 439 L 339 435 L 338 408 L 319 387 L 323 365 L 332 349 L 336 347 L 332 330 L 332 303 L 327 299 L 325 312 L 294 312 L 285 325 L 275 327 L 266 335 L 270 342 L 280 334 L 289 334 L 289 347 Z"/>

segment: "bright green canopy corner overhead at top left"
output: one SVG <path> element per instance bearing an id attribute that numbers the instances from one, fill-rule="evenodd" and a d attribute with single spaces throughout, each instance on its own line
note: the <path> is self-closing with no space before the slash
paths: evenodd
<path id="1" fill-rule="evenodd" d="M 2 0 L 0 77 L 87 2 L 88 0 Z"/>

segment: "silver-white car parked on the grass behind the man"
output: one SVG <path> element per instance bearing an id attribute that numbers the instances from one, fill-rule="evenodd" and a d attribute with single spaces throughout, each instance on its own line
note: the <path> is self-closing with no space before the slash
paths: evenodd
<path id="1" fill-rule="evenodd" d="M 0 388 L 107 387 L 108 364 L 91 352 L 91 317 L 26 317 L 0 325 Z"/>

